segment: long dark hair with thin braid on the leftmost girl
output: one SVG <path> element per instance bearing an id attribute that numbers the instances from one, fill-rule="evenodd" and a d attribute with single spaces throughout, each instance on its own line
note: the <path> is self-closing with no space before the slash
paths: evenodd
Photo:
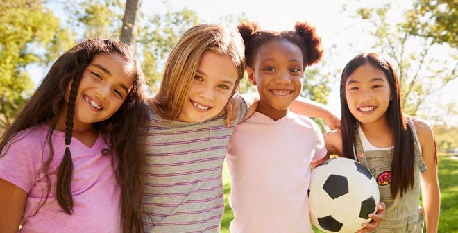
<path id="1" fill-rule="evenodd" d="M 144 75 L 139 67 L 135 56 L 129 47 L 113 39 L 93 39 L 80 42 L 54 62 L 48 74 L 19 112 L 12 125 L 6 129 L 0 140 L 0 151 L 4 156 L 10 140 L 17 132 L 30 128 L 39 123 L 49 124 L 49 131 L 46 135 L 46 142 L 49 146 L 49 155 L 43 159 L 43 171 L 46 178 L 46 197 L 36 212 L 44 205 L 49 198 L 51 191 L 51 180 L 49 166 L 54 157 L 52 144 L 53 131 L 56 128 L 58 114 L 65 106 L 65 94 L 71 82 L 69 97 L 67 101 L 67 115 L 65 121 L 65 144 L 71 142 L 73 130 L 73 116 L 78 86 L 83 72 L 92 62 L 96 55 L 116 54 L 126 62 L 134 64 L 134 81 L 126 100 L 119 110 L 109 119 L 93 123 L 99 132 L 108 135 L 108 145 L 116 156 L 118 166 L 116 167 L 117 182 L 121 187 L 121 220 L 124 232 L 140 232 L 142 230 L 142 164 L 143 164 L 143 130 L 146 119 L 146 108 L 144 107 Z M 126 119 L 128 117 L 129 119 Z M 14 141 L 11 141 L 14 143 Z M 7 148 L 6 148 L 7 147 Z M 5 148 L 5 150 L 3 150 Z M 46 155 L 43 155 L 44 157 Z M 114 165 L 113 165 L 114 166 Z M 56 169 L 56 200 L 62 211 L 72 214 L 74 202 L 71 196 L 71 178 L 73 175 L 73 162 L 69 148 L 65 148 L 65 155 L 62 162 Z M 35 212 L 35 214 L 36 214 Z"/>

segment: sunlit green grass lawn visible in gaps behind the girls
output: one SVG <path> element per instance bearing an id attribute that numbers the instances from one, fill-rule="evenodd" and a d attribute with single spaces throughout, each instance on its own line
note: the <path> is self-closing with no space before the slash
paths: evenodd
<path id="1" fill-rule="evenodd" d="M 221 233 L 229 232 L 232 209 L 228 205 L 230 174 L 226 163 L 223 167 L 224 209 Z M 439 157 L 439 183 L 441 185 L 441 216 L 439 232 L 458 232 L 458 159 Z M 268 220 L 266 220 L 268 221 Z M 315 232 L 320 232 L 316 230 Z"/>

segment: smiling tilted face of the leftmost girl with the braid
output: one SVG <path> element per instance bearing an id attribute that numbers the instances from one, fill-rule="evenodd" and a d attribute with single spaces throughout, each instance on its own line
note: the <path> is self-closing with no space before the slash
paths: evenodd
<path id="1" fill-rule="evenodd" d="M 75 101 L 74 123 L 89 124 L 110 118 L 119 110 L 133 86 L 133 73 L 133 64 L 119 55 L 94 57 L 81 77 Z"/>

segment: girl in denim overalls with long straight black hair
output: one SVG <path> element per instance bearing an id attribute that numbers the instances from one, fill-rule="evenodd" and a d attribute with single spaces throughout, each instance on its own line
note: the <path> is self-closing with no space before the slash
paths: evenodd
<path id="1" fill-rule="evenodd" d="M 380 54 L 359 54 L 341 76 L 341 130 L 325 135 L 328 153 L 375 176 L 384 220 L 372 232 L 437 232 L 440 193 L 432 129 L 402 113 L 398 76 Z M 425 211 L 419 206 L 420 190 Z"/>

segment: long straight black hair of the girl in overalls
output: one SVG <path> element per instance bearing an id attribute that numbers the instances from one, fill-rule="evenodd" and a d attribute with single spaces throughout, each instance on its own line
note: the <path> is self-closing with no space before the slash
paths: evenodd
<path id="1" fill-rule="evenodd" d="M 396 196 L 399 192 L 402 196 L 408 189 L 414 187 L 414 140 L 412 138 L 412 129 L 407 125 L 408 117 L 402 113 L 398 75 L 391 64 L 378 53 L 359 54 L 350 60 L 342 71 L 340 104 L 343 155 L 354 159 L 355 130 L 358 127 L 357 119 L 348 109 L 345 85 L 353 71 L 364 64 L 371 64 L 373 67 L 383 71 L 389 83 L 391 101 L 385 114 L 387 114 L 389 126 L 393 132 L 394 145 L 393 161 L 391 162 L 391 196 Z"/>

